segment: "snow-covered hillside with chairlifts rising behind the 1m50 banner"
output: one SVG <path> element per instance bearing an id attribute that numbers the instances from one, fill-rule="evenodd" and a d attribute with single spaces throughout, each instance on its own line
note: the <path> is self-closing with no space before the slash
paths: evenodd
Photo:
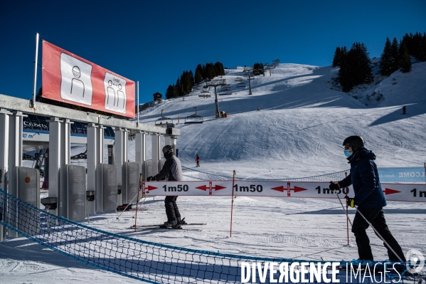
<path id="1" fill-rule="evenodd" d="M 351 93 L 336 90 L 337 68 L 280 64 L 272 74 L 252 80 L 252 95 L 243 68 L 226 70 L 233 95 L 219 95 L 220 110 L 228 118 L 215 119 L 211 98 L 199 98 L 202 85 L 185 97 L 165 100 L 141 113 L 142 123 L 154 124 L 161 110 L 181 130 L 179 155 L 184 165 L 240 177 L 304 177 L 347 169 L 341 142 L 361 135 L 378 156 L 379 167 L 418 167 L 426 161 L 426 63 L 408 74 L 388 78 L 376 70 L 375 82 Z M 244 78 L 246 88 L 237 88 Z M 218 88 L 219 89 L 219 88 Z M 379 98 L 380 100 L 376 100 Z M 407 105 L 407 115 L 401 108 Z M 257 106 L 260 111 L 257 112 Z M 202 115 L 202 125 L 184 125 L 184 118 Z M 148 141 L 150 147 L 150 140 Z M 132 144 L 129 145 L 132 149 Z M 148 150 L 148 158 L 151 149 Z M 132 151 L 129 153 L 132 159 Z"/>

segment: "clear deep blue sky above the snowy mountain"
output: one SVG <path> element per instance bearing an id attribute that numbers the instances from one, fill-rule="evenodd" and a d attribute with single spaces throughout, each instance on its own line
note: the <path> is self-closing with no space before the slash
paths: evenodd
<path id="1" fill-rule="evenodd" d="M 426 31 L 426 1 L 21 1 L 0 9 L 0 93 L 31 99 L 35 33 L 130 80 L 140 102 L 183 70 L 271 63 L 331 65 L 337 46 Z M 41 52 L 39 56 L 41 63 Z M 38 71 L 37 88 L 41 87 Z M 1 102 L 0 102 L 1 107 Z"/>

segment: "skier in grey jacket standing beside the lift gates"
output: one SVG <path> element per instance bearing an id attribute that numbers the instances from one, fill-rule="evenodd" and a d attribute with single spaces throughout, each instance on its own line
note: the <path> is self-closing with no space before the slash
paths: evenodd
<path id="1" fill-rule="evenodd" d="M 163 154 L 166 158 L 163 169 L 156 174 L 154 177 L 148 177 L 147 181 L 159 181 L 160 179 L 166 178 L 168 181 L 181 181 L 183 180 L 181 160 L 174 155 L 173 146 L 166 145 L 163 147 Z M 183 219 L 181 220 L 181 214 L 176 204 L 178 196 L 166 196 L 164 199 L 164 206 L 166 207 L 167 221 L 162 228 L 173 227 L 180 228 L 179 225 L 186 223 Z"/>

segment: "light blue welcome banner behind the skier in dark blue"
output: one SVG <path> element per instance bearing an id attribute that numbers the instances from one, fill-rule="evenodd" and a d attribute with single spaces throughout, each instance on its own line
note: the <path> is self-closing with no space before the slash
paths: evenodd
<path id="1" fill-rule="evenodd" d="M 378 168 L 380 182 L 426 182 L 424 167 Z"/>

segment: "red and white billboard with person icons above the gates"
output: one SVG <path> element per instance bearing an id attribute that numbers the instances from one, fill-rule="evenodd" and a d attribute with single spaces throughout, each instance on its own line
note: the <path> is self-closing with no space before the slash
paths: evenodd
<path id="1" fill-rule="evenodd" d="M 43 41 L 43 98 L 134 117 L 134 82 Z"/>

